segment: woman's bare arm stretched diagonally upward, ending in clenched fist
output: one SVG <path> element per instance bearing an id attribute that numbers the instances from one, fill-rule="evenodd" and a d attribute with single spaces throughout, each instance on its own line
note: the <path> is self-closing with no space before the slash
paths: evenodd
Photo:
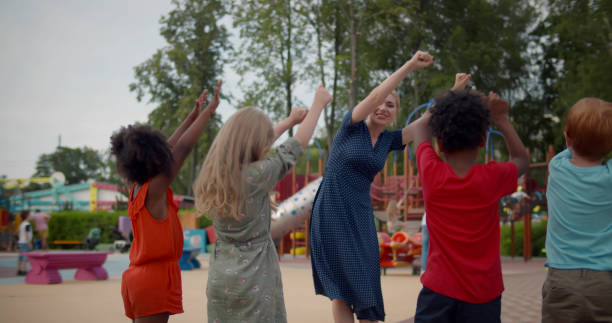
<path id="1" fill-rule="evenodd" d="M 433 63 L 433 56 L 423 51 L 417 51 L 409 61 L 404 63 L 402 67 L 391 74 L 379 86 L 372 90 L 363 101 L 355 106 L 353 114 L 351 115 L 351 123 L 365 120 L 377 106 L 385 101 L 387 96 L 397 88 L 400 82 L 404 80 L 408 74 L 416 69 L 427 67 L 431 63 Z"/>

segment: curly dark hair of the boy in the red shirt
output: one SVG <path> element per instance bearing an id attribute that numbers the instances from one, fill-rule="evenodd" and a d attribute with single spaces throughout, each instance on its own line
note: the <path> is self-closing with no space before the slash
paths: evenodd
<path id="1" fill-rule="evenodd" d="M 448 91 L 435 101 L 429 126 L 442 151 L 452 153 L 483 144 L 490 113 L 482 93 Z"/>

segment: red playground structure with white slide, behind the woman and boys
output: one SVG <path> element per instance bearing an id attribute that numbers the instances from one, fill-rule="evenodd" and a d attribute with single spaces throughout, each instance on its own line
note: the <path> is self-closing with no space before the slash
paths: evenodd
<path id="1" fill-rule="evenodd" d="M 418 111 L 421 111 L 425 108 L 430 107 L 433 104 L 433 100 L 416 107 L 411 114 L 408 116 L 406 121 L 406 125 L 408 125 L 412 118 L 416 115 Z M 499 131 L 489 129 L 486 142 L 485 142 L 485 154 L 484 161 L 489 162 L 495 160 L 495 146 L 494 146 L 494 137 L 499 136 L 503 138 L 503 134 Z M 320 184 L 319 177 L 323 175 L 323 160 L 321 147 L 317 144 L 319 149 L 319 160 L 318 160 L 318 169 L 317 172 L 311 174 L 311 160 L 310 160 L 310 151 L 308 151 L 307 162 L 306 162 L 306 174 L 304 175 L 296 175 L 295 167 L 293 171 L 288 174 L 275 188 L 277 192 L 277 201 L 282 201 L 277 209 L 277 211 L 272 215 L 272 235 L 275 239 L 281 239 L 278 247 L 279 254 L 290 253 L 294 256 L 298 254 L 299 247 L 304 247 L 304 252 L 306 256 L 309 256 L 309 243 L 308 243 L 308 219 L 310 216 L 310 210 L 312 209 L 312 203 L 314 201 L 314 196 L 316 194 L 316 190 L 318 189 L 318 185 Z M 436 151 L 439 150 L 436 147 Z M 386 221 L 386 215 L 381 217 L 380 214 L 383 213 L 390 201 L 400 201 L 400 216 L 399 219 L 403 221 L 415 222 L 414 228 L 415 232 L 405 233 L 406 236 L 401 238 L 401 241 L 406 241 L 406 248 L 401 249 L 398 244 L 398 241 L 395 241 L 394 245 L 395 249 L 391 247 L 391 242 L 382 242 L 381 247 L 381 265 L 384 270 L 387 267 L 396 267 L 396 266 L 405 266 L 410 264 L 415 256 L 420 254 L 420 233 L 417 232 L 418 228 L 420 228 L 420 220 L 425 213 L 424 203 L 423 203 L 423 194 L 422 188 L 420 185 L 419 176 L 417 174 L 417 170 L 415 167 L 415 162 L 413 161 L 413 151 L 410 146 L 406 146 L 403 151 L 404 154 L 404 163 L 403 163 L 403 174 L 399 175 L 398 173 L 398 157 L 397 152 L 393 152 L 391 162 L 389 159 L 385 163 L 385 166 L 374 179 L 371 189 L 370 189 L 370 197 L 372 199 L 372 206 L 374 208 L 374 213 L 376 217 L 381 220 L 378 222 L 378 231 L 384 231 L 383 223 Z M 554 150 L 552 146 L 548 147 L 548 151 L 546 153 L 546 162 L 543 163 L 532 163 L 530 165 L 530 171 L 534 169 L 546 168 L 548 167 L 549 161 L 554 156 Z M 546 178 L 548 177 L 548 173 L 546 172 Z M 534 185 L 535 180 L 529 177 L 529 172 L 522 177 L 523 183 L 521 186 L 526 189 L 526 193 L 529 195 L 536 194 L 539 196 L 537 203 L 545 205 L 545 188 L 537 188 L 537 185 Z M 544 180 L 546 182 L 546 179 Z M 308 184 L 310 183 L 310 184 Z M 303 189 L 308 185 L 308 189 Z M 302 191 L 299 191 L 303 189 Z M 296 192 L 299 191 L 297 194 Z M 532 258 L 532 244 L 531 244 L 531 212 L 532 208 L 526 209 L 529 214 L 525 214 L 522 216 L 522 221 L 524 224 L 524 232 L 523 235 L 523 256 L 525 261 Z M 514 222 L 511 222 L 512 225 L 512 256 L 515 256 L 514 252 Z M 304 234 L 304 232 L 306 234 Z M 302 234 L 299 234 L 302 233 Z M 412 237 L 410 236 L 412 234 Z M 281 238 L 282 237 L 282 238 Z M 303 237 L 303 239 L 299 239 Z M 393 241 L 392 238 L 390 238 Z M 399 236 L 397 239 L 400 239 Z M 408 241 L 410 241 L 408 245 Z M 385 243 L 389 243 L 389 245 L 384 245 Z M 383 249 L 387 248 L 386 254 L 382 252 Z M 390 248 L 390 249 L 388 249 Z M 395 250 L 395 255 L 393 250 Z M 399 255 L 399 257 L 398 257 Z M 383 264 L 384 262 L 384 264 Z"/>

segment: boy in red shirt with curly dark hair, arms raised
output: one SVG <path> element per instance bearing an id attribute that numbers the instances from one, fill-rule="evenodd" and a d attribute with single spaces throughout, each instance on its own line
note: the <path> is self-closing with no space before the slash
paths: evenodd
<path id="1" fill-rule="evenodd" d="M 529 168 L 508 111 L 508 102 L 493 92 L 450 91 L 417 121 L 429 254 L 415 322 L 501 321 L 498 201 Z M 504 134 L 510 162 L 476 162 L 489 117 Z M 446 160 L 434 151 L 432 135 Z"/>

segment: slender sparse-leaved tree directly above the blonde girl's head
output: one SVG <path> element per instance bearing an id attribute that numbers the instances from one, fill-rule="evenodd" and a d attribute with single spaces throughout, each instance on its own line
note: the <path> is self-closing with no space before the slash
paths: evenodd
<path id="1" fill-rule="evenodd" d="M 298 103 L 294 91 L 307 38 L 300 28 L 305 21 L 296 12 L 297 2 L 232 2 L 234 27 L 241 39 L 235 66 L 239 74 L 255 78 L 250 84 L 241 83 L 246 86 L 241 106 L 255 106 L 282 118 Z"/>

